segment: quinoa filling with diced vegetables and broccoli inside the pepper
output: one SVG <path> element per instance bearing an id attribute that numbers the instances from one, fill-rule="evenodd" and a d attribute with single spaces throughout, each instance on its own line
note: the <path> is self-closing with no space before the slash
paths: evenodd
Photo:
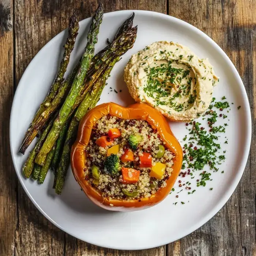
<path id="1" fill-rule="evenodd" d="M 142 199 L 166 187 L 174 153 L 144 120 L 103 116 L 86 148 L 85 179 L 108 199 Z"/>

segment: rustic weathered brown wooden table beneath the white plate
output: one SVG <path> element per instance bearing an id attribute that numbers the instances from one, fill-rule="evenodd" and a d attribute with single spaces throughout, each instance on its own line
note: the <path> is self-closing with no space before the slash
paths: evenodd
<path id="1" fill-rule="evenodd" d="M 87 244 L 57 229 L 39 213 L 17 181 L 9 150 L 12 98 L 35 54 L 68 26 L 72 9 L 78 9 L 82 20 L 92 15 L 97 1 L 0 0 L 0 255 L 255 256 L 256 1 L 102 2 L 105 12 L 151 10 L 185 20 L 204 31 L 227 53 L 242 77 L 251 105 L 253 135 L 245 173 L 234 194 L 214 218 L 189 236 L 166 246 L 144 251 L 115 251 Z"/>

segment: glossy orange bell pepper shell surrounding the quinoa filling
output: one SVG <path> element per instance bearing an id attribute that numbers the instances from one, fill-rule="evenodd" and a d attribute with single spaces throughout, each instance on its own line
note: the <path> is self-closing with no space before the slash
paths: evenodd
<path id="1" fill-rule="evenodd" d="M 123 119 L 139 119 L 145 120 L 151 125 L 153 129 L 157 129 L 161 139 L 165 142 L 165 148 L 169 149 L 175 154 L 173 158 L 173 172 L 168 180 L 166 180 L 166 187 L 159 189 L 154 195 L 144 197 L 140 200 L 117 200 L 104 198 L 100 191 L 92 187 L 84 178 L 84 170 L 87 168 L 86 147 L 90 141 L 91 130 L 93 129 L 97 120 L 106 115 L 116 116 Z M 112 211 L 134 211 L 142 210 L 161 202 L 167 195 L 169 195 L 174 182 L 176 181 L 182 165 L 182 148 L 178 140 L 174 137 L 169 124 L 163 115 L 158 110 L 148 106 L 144 103 L 136 103 L 127 108 L 117 105 L 115 103 L 103 103 L 91 109 L 82 118 L 76 142 L 72 146 L 71 151 L 71 168 L 75 180 L 86 193 L 86 195 L 98 206 Z"/>

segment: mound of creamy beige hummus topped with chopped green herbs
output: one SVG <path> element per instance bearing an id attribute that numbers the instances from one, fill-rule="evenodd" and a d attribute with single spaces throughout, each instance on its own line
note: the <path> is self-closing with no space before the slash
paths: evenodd
<path id="1" fill-rule="evenodd" d="M 218 77 L 208 59 L 186 46 L 160 41 L 132 55 L 124 80 L 135 101 L 153 106 L 170 120 L 188 121 L 208 109 Z"/>

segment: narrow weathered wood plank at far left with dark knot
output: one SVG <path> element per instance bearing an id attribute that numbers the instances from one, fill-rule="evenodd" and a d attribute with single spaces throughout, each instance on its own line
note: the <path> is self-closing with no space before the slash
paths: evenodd
<path id="1" fill-rule="evenodd" d="M 0 255 L 14 254 L 17 224 L 17 178 L 9 146 L 14 81 L 12 17 L 11 1 L 0 1 Z"/>

